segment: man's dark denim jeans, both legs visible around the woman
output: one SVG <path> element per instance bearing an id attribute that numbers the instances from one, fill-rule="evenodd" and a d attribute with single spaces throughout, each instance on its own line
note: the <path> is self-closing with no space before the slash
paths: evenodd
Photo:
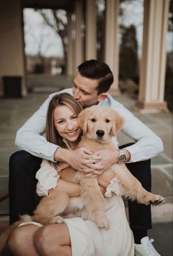
<path id="1" fill-rule="evenodd" d="M 129 144 L 128 144 L 129 145 Z M 131 145 L 131 144 L 130 144 Z M 124 148 L 123 145 L 120 148 Z M 35 174 L 42 159 L 26 151 L 15 152 L 9 160 L 9 219 L 10 224 L 19 215 L 29 214 L 35 206 Z M 150 160 L 127 164 L 131 173 L 142 183 L 143 188 L 151 191 Z M 150 205 L 128 202 L 130 227 L 132 229 L 151 229 Z"/>

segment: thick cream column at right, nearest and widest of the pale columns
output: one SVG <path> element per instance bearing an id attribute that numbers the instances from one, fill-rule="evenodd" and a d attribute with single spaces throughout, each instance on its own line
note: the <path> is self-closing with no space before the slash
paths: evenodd
<path id="1" fill-rule="evenodd" d="M 164 101 L 169 0 L 145 0 L 139 99 L 143 110 L 167 110 Z"/>

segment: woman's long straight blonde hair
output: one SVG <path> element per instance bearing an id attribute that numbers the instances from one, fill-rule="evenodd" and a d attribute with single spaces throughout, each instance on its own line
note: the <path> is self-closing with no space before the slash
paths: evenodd
<path id="1" fill-rule="evenodd" d="M 80 103 L 78 103 L 77 100 L 73 99 L 73 97 L 69 93 L 57 94 L 51 99 L 49 103 L 46 118 L 47 141 L 55 145 L 61 146 L 62 148 L 66 148 L 66 144 L 64 143 L 63 138 L 59 135 L 54 125 L 53 113 L 55 108 L 59 105 L 68 106 L 69 108 L 71 108 L 72 111 L 74 111 L 74 114 L 76 115 L 78 115 L 83 109 Z M 55 163 L 53 165 L 55 167 Z"/>

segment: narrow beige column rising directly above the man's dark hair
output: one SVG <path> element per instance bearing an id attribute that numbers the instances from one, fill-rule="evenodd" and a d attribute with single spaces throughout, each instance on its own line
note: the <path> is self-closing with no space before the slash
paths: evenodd
<path id="1" fill-rule="evenodd" d="M 96 1 L 86 1 L 85 60 L 97 58 L 96 53 Z"/>

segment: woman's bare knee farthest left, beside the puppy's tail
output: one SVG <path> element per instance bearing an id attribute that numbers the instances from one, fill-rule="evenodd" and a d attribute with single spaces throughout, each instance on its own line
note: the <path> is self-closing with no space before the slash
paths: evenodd
<path id="1" fill-rule="evenodd" d="M 9 236 L 8 246 L 14 256 L 39 256 L 34 246 L 34 235 L 40 227 L 27 224 L 17 227 Z"/>

